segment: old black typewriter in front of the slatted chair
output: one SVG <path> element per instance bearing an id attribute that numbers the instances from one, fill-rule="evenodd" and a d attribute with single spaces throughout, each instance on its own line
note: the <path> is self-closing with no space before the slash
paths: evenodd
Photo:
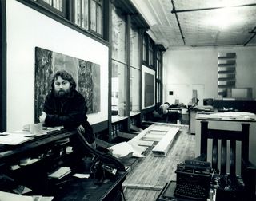
<path id="1" fill-rule="evenodd" d="M 174 196 L 183 199 L 206 200 L 209 197 L 211 168 L 210 163 L 198 160 L 185 160 L 178 164 Z"/>

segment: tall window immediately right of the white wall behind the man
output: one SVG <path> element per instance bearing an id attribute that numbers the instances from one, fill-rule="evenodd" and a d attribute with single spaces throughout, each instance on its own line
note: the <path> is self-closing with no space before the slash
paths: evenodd
<path id="1" fill-rule="evenodd" d="M 126 18 L 112 6 L 112 114 L 126 114 Z"/>

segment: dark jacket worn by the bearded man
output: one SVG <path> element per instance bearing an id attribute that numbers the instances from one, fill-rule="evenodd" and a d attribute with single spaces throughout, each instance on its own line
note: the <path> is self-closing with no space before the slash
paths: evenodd
<path id="1" fill-rule="evenodd" d="M 69 96 L 65 98 L 55 97 L 54 92 L 51 91 L 46 97 L 43 111 L 47 114 L 46 126 L 75 129 L 82 125 L 85 128 L 85 138 L 88 143 L 94 142 L 94 132 L 87 121 L 85 98 L 75 89 L 71 89 Z"/>

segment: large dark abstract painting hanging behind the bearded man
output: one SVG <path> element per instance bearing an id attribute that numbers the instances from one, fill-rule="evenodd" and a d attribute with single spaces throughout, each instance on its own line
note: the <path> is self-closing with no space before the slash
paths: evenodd
<path id="1" fill-rule="evenodd" d="M 69 72 L 77 83 L 77 90 L 86 99 L 87 114 L 100 112 L 100 65 L 62 53 L 35 48 L 34 121 L 38 122 L 50 81 L 59 69 Z"/>

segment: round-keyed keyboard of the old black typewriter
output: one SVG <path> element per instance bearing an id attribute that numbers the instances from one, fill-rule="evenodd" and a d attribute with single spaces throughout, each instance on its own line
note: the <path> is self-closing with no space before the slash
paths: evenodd
<path id="1" fill-rule="evenodd" d="M 174 196 L 187 199 L 206 200 L 208 191 L 205 187 L 202 187 L 202 185 L 195 183 L 177 183 Z"/>

